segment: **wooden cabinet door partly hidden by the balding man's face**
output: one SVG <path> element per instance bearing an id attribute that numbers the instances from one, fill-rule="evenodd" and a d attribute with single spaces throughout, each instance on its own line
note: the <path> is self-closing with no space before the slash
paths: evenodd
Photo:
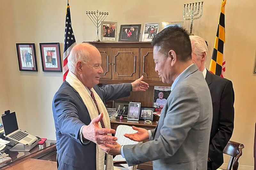
<path id="1" fill-rule="evenodd" d="M 101 55 L 101 67 L 103 69 L 103 74 L 101 74 L 101 79 L 111 79 L 111 48 L 98 48 Z"/>

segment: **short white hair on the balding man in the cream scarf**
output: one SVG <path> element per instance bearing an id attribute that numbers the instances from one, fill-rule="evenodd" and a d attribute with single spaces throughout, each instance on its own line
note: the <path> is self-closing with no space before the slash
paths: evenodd
<path id="1" fill-rule="evenodd" d="M 83 48 L 72 48 L 68 56 L 68 69 L 75 73 L 76 72 L 76 63 L 78 61 L 83 61 L 85 63 L 89 60 L 89 52 Z"/>

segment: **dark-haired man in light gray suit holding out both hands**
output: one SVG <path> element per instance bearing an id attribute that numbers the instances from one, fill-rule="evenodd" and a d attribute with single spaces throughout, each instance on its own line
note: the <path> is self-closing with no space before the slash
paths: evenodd
<path id="1" fill-rule="evenodd" d="M 162 109 L 156 129 L 126 134 L 136 145 L 103 148 L 122 154 L 129 166 L 153 160 L 156 170 L 206 170 L 212 123 L 212 100 L 203 74 L 191 60 L 191 43 L 186 30 L 165 28 L 152 40 L 156 72 L 172 92 Z"/>

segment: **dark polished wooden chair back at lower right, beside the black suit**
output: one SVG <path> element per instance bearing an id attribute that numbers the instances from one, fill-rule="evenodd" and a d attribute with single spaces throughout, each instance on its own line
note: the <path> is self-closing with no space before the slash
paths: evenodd
<path id="1" fill-rule="evenodd" d="M 238 169 L 238 159 L 242 156 L 242 149 L 244 148 L 244 144 L 240 144 L 233 141 L 228 141 L 228 144 L 223 150 L 223 153 L 230 155 L 230 159 L 228 162 L 227 170 L 237 170 Z"/>

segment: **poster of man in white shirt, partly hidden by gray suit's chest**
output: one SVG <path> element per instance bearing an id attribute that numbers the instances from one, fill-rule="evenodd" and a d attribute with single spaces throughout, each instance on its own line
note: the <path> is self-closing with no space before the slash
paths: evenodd
<path id="1" fill-rule="evenodd" d="M 154 86 L 153 107 L 163 108 L 170 93 L 170 86 Z"/>

